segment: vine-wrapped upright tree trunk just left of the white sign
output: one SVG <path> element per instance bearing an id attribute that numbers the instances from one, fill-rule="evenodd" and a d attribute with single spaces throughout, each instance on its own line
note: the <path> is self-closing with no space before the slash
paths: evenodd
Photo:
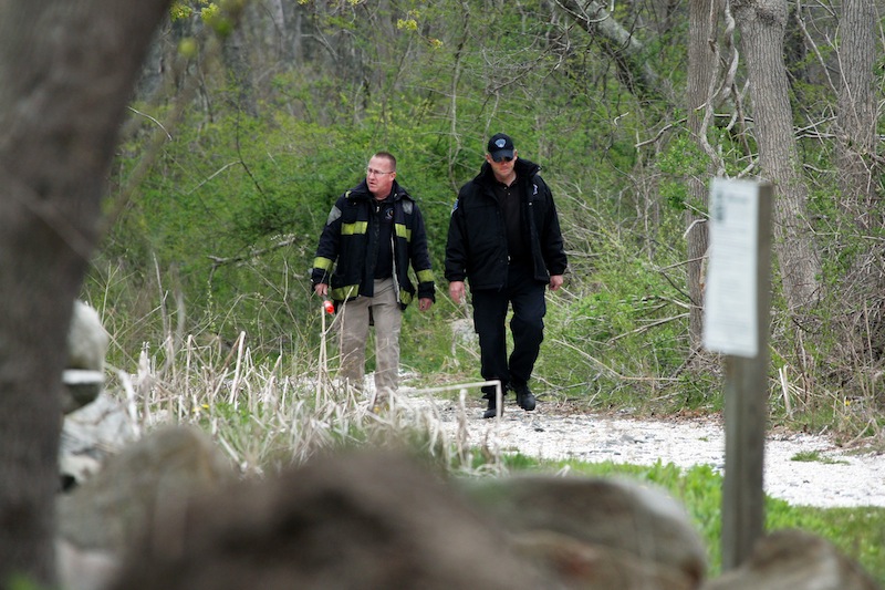
<path id="1" fill-rule="evenodd" d="M 701 152 L 712 149 L 707 142 L 709 113 L 712 113 L 717 61 L 717 24 L 722 12 L 721 0 L 691 0 L 688 6 L 688 131 Z M 709 244 L 707 224 L 698 211 L 707 210 L 707 179 L 716 175 L 716 165 L 710 158 L 707 176 L 687 178 L 691 203 L 697 207 L 686 209 L 688 229 L 688 296 L 691 299 L 688 313 L 688 332 L 691 350 L 700 348 L 704 333 L 702 261 Z"/>

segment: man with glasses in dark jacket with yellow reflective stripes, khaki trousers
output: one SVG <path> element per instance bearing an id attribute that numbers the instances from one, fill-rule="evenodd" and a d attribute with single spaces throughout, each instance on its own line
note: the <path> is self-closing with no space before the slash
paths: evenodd
<path id="1" fill-rule="evenodd" d="M 340 373 L 357 390 L 363 387 L 368 327 L 375 325 L 373 406 L 387 402 L 399 384 L 403 310 L 416 293 L 409 265 L 418 280 L 418 309 L 427 311 L 435 294 L 424 219 L 396 182 L 396 158 L 378 152 L 368 161 L 365 180 L 332 207 L 311 271 L 314 292 L 335 303 Z"/>

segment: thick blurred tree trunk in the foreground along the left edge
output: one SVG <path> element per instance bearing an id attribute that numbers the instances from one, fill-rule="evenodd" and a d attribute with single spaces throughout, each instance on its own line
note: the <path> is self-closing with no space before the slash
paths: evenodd
<path id="1" fill-rule="evenodd" d="M 0 0 L 0 587 L 54 582 L 66 334 L 166 0 Z"/>

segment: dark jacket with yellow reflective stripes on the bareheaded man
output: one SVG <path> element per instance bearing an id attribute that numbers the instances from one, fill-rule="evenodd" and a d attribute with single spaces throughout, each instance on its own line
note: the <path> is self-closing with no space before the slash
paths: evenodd
<path id="1" fill-rule="evenodd" d="M 418 299 L 435 300 L 434 272 L 427 248 L 427 232 L 420 210 L 406 190 L 396 182 L 392 189 L 394 205 L 393 268 L 397 299 L 403 309 L 415 299 L 415 284 L 408 267 L 418 280 Z M 344 193 L 329 214 L 316 258 L 313 261 L 311 282 L 330 286 L 333 301 L 341 303 L 357 296 L 374 294 L 375 260 L 368 252 L 377 251 L 378 216 L 375 198 L 365 179 Z M 334 268 L 334 271 L 333 271 Z"/>

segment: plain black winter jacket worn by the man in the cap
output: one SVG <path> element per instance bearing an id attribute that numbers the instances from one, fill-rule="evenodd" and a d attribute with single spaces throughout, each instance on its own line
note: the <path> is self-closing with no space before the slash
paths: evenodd
<path id="1" fill-rule="evenodd" d="M 532 271 L 540 282 L 565 272 L 566 257 L 556 206 L 537 164 L 518 158 L 517 183 L 523 231 L 529 237 Z M 509 257 L 503 215 L 494 196 L 494 174 L 488 163 L 464 185 L 449 220 L 446 279 L 470 281 L 470 289 L 501 289 L 507 284 Z"/>

